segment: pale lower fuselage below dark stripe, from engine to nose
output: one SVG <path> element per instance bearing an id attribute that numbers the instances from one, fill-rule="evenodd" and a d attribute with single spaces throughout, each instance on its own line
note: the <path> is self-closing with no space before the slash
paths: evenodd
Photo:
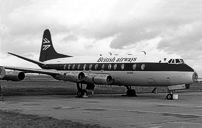
<path id="1" fill-rule="evenodd" d="M 109 72 L 115 81 L 115 85 L 128 86 L 169 86 L 178 84 L 190 84 L 193 82 L 193 72 L 155 72 L 155 71 L 135 71 L 135 72 Z"/>

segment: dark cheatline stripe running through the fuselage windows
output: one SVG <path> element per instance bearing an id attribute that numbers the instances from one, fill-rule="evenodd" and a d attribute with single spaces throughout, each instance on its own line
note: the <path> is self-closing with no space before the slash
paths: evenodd
<path id="1" fill-rule="evenodd" d="M 97 67 L 96 67 L 97 65 Z M 104 68 L 103 68 L 104 65 Z M 116 65 L 116 66 L 115 66 Z M 85 69 L 84 69 L 85 67 Z M 116 68 L 115 68 L 116 67 Z M 46 64 L 45 69 L 69 70 L 69 71 L 181 71 L 194 72 L 187 64 L 169 63 L 63 63 Z"/>

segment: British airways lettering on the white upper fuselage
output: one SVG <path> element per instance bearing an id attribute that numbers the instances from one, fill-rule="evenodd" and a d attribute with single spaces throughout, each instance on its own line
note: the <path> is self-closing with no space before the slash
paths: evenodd
<path id="1" fill-rule="evenodd" d="M 135 62 L 137 58 L 124 58 L 124 57 L 100 57 L 97 62 Z"/>

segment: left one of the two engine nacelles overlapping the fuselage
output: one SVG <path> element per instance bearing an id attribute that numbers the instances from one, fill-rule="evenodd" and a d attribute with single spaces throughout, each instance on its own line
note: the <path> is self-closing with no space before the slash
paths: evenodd
<path id="1" fill-rule="evenodd" d="M 53 78 L 57 80 L 70 81 L 70 82 L 81 82 L 84 80 L 83 72 L 65 72 L 58 75 L 53 75 Z"/>

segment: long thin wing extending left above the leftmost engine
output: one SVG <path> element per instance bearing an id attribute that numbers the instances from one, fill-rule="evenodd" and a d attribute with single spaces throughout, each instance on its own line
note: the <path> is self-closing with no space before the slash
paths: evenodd
<path id="1" fill-rule="evenodd" d="M 10 66 L 4 66 L 5 69 L 11 69 L 11 70 L 18 70 L 23 71 L 25 73 L 39 73 L 39 74 L 47 74 L 47 75 L 57 75 L 59 72 L 57 70 L 52 69 L 34 69 L 34 68 L 22 68 L 22 67 L 10 67 Z"/>

